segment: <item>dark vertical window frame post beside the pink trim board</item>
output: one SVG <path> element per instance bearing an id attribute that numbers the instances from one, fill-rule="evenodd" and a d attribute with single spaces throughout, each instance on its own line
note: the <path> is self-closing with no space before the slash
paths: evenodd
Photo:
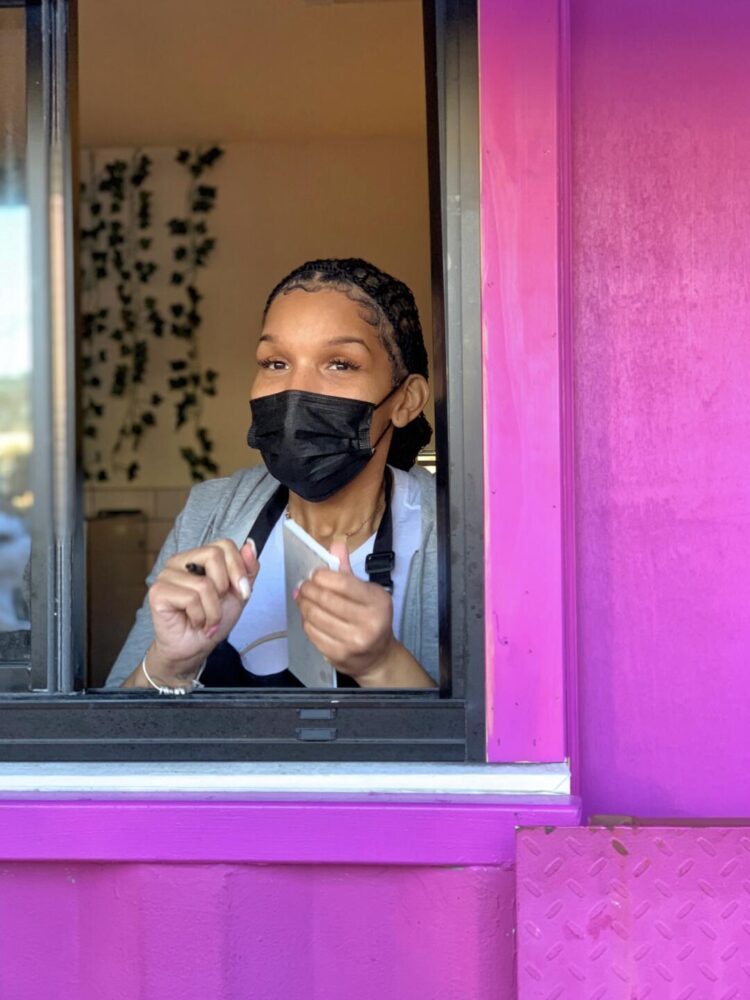
<path id="1" fill-rule="evenodd" d="M 426 0 L 424 14 L 441 679 L 467 701 L 467 754 L 477 760 L 485 755 L 477 9 L 470 0 Z"/>

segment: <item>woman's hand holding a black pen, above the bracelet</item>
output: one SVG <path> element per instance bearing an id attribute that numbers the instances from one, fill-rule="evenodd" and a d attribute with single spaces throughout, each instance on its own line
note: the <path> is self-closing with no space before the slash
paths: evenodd
<path id="1" fill-rule="evenodd" d="M 205 576 L 189 572 L 190 563 L 202 566 Z M 220 539 L 172 556 L 148 593 L 154 626 L 149 673 L 179 679 L 197 670 L 236 624 L 258 569 L 252 542 L 238 549 Z"/>

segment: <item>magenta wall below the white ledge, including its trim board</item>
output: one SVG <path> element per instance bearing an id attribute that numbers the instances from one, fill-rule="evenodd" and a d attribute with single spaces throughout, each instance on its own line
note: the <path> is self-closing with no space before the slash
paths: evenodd
<path id="1" fill-rule="evenodd" d="M 2 1000 L 512 1000 L 515 829 L 577 803 L 0 801 Z"/>

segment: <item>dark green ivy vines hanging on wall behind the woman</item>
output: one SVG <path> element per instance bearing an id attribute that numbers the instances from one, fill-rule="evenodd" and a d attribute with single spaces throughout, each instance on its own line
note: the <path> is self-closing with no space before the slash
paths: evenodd
<path id="1" fill-rule="evenodd" d="M 168 282 L 165 276 L 159 281 L 159 234 L 154 231 L 154 193 L 148 184 L 152 159 L 135 151 L 130 161 L 118 158 L 99 169 L 90 162 L 89 178 L 82 185 L 81 225 L 88 479 L 137 479 L 139 450 L 157 428 L 167 396 L 174 401 L 178 440 L 184 441 L 185 431 L 190 432 L 188 442 L 178 447 L 191 478 L 198 481 L 218 472 L 203 415 L 204 398 L 216 394 L 218 376 L 202 366 L 198 331 L 203 299 L 199 274 L 216 246 L 208 216 L 217 190 L 203 177 L 222 155 L 218 146 L 179 150 L 176 155 L 188 176 L 184 214 L 166 224 L 169 253 L 163 270 L 170 270 Z M 162 350 L 155 356 L 154 341 L 163 341 L 167 330 L 184 343 L 184 350 L 169 351 L 166 358 Z M 121 404 L 116 428 L 107 419 L 111 400 Z M 105 421 L 108 435 L 103 434 Z"/>

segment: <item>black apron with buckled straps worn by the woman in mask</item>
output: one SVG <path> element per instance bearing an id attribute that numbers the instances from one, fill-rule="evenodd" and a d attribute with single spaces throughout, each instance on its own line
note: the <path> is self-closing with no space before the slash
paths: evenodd
<path id="1" fill-rule="evenodd" d="M 375 544 L 371 554 L 365 560 L 365 570 L 370 583 L 380 584 L 389 594 L 393 593 L 391 573 L 396 562 L 393 551 L 393 516 L 391 514 L 391 492 L 393 490 L 393 473 L 385 470 L 385 510 L 380 521 Z M 255 542 L 258 558 L 274 525 L 284 514 L 289 500 L 289 490 L 279 486 L 255 519 L 247 540 Z M 336 671 L 336 683 L 339 687 L 359 687 L 353 677 Z M 213 650 L 206 661 L 201 674 L 201 684 L 204 687 L 304 687 L 290 670 L 282 670 L 277 674 L 251 674 L 242 666 L 240 654 L 224 639 Z"/>

